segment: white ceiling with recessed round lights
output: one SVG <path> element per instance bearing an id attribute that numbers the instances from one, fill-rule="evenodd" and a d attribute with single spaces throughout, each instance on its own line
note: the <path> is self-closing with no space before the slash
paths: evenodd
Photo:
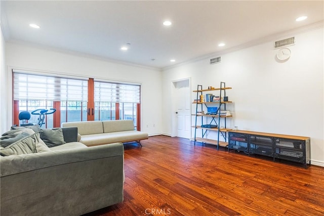
<path id="1" fill-rule="evenodd" d="M 323 7 L 323 1 L 1 0 L 1 24 L 6 41 L 164 68 L 322 21 Z M 121 51 L 127 43 L 130 49 Z"/>

